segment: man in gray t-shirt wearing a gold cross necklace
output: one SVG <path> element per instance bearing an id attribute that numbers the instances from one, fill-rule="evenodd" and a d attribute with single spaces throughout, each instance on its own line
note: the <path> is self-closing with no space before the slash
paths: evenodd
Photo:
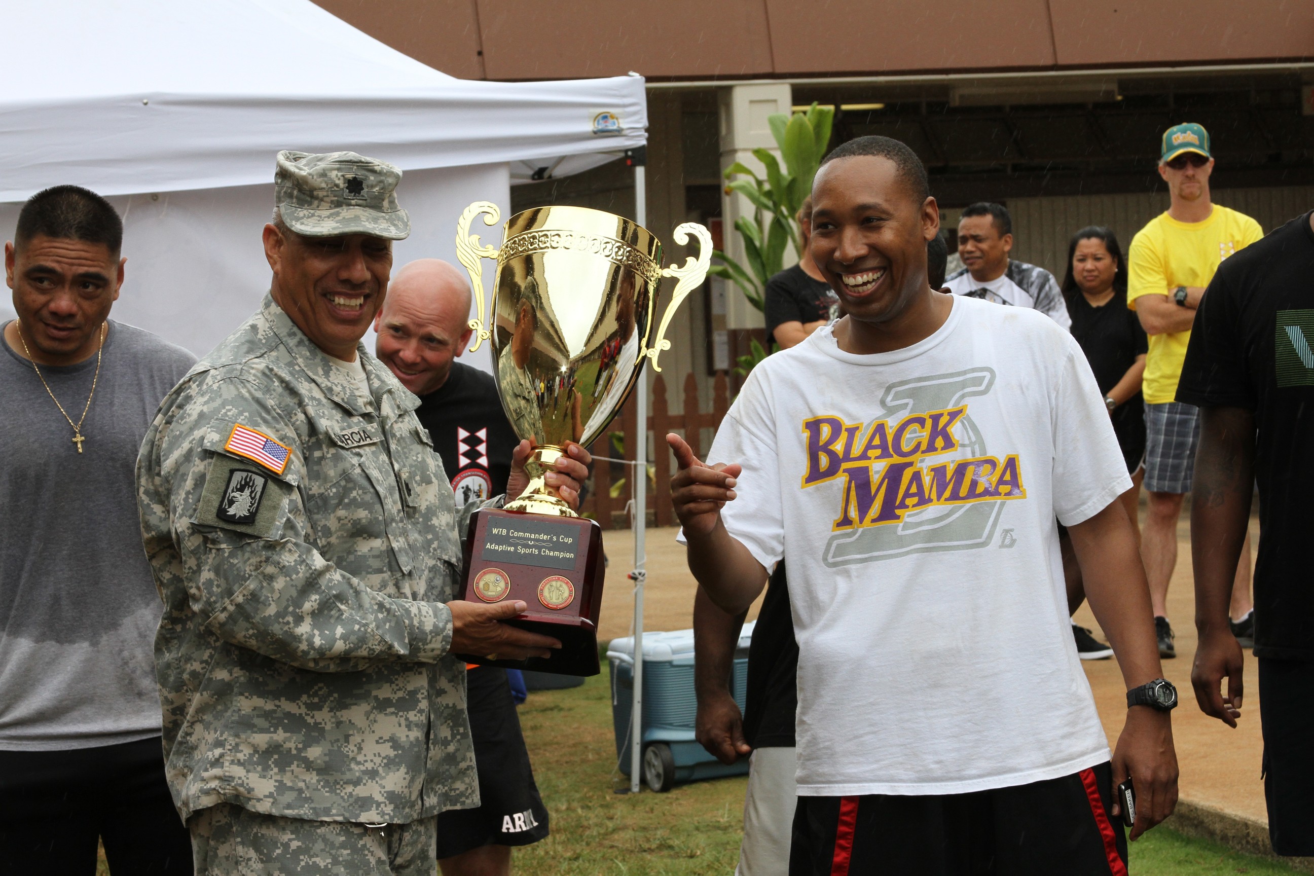
<path id="1" fill-rule="evenodd" d="M 32 197 L 5 244 L 18 319 L 0 344 L 0 862 L 191 873 L 164 781 L 152 640 L 160 599 L 134 469 L 196 361 L 109 319 L 122 223 L 101 197 Z M 5 872 L 11 872 L 5 869 Z"/>

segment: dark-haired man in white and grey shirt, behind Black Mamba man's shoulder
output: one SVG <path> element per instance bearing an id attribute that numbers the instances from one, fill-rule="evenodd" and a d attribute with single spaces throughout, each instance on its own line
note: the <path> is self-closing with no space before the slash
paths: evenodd
<path id="1" fill-rule="evenodd" d="M 958 221 L 958 257 L 964 267 L 949 276 L 949 290 L 996 305 L 1039 310 L 1064 328 L 1072 328 L 1054 274 L 1009 259 L 1012 251 L 1013 218 L 1008 208 L 989 201 L 972 204 Z"/>

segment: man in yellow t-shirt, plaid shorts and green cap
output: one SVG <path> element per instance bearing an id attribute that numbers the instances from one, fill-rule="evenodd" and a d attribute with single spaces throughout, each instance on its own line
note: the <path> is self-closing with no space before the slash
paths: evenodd
<path id="1" fill-rule="evenodd" d="M 1197 408 L 1175 401 L 1177 378 L 1205 286 L 1223 259 L 1264 236 L 1255 219 L 1209 200 L 1213 169 L 1209 133 L 1202 126 L 1188 122 L 1164 131 L 1159 176 L 1168 184 L 1171 204 L 1137 232 L 1127 257 L 1127 306 L 1150 335 L 1142 387 L 1150 500 L 1141 553 L 1160 657 L 1176 657 L 1168 579 L 1177 563 L 1177 516 L 1183 496 L 1190 493 L 1200 436 Z M 1231 620 L 1238 640 L 1254 646 L 1248 538 L 1233 586 Z"/>

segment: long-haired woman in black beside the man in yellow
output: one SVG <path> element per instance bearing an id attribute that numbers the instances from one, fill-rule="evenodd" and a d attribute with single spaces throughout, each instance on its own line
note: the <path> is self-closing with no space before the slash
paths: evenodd
<path id="1" fill-rule="evenodd" d="M 1137 511 L 1141 499 L 1142 465 L 1146 450 L 1144 403 L 1141 377 L 1146 369 L 1148 339 L 1135 313 L 1127 309 L 1127 271 L 1122 247 L 1113 231 L 1100 226 L 1081 229 L 1068 244 L 1067 274 L 1063 298 L 1072 318 L 1072 336 L 1081 345 L 1095 382 L 1104 394 L 1104 403 L 1113 420 L 1113 433 L 1122 448 L 1122 458 L 1131 475 L 1131 489 L 1123 493 L 1122 506 L 1131 519 L 1139 540 Z M 1063 573 L 1067 578 L 1068 608 L 1076 611 L 1085 598 L 1076 554 L 1067 533 L 1062 532 Z M 1083 659 L 1100 659 L 1112 650 L 1100 646 L 1089 630 L 1076 626 L 1077 653 Z"/>

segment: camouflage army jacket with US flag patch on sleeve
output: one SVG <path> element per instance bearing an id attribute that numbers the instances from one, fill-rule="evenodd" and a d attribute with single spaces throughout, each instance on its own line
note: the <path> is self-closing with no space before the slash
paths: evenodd
<path id="1" fill-rule="evenodd" d="M 403 823 L 478 805 L 465 666 L 447 654 L 457 511 L 419 401 L 369 394 L 265 296 L 160 405 L 137 461 L 170 788 Z"/>

